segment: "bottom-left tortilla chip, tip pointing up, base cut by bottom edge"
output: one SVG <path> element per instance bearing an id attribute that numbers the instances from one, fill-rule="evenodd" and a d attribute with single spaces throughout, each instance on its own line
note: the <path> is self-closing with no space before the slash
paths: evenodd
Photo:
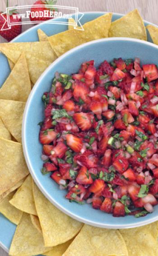
<path id="1" fill-rule="evenodd" d="M 14 233 L 9 255 L 32 256 L 42 254 L 51 249 L 44 246 L 42 234 L 33 226 L 30 215 L 23 213 Z"/>

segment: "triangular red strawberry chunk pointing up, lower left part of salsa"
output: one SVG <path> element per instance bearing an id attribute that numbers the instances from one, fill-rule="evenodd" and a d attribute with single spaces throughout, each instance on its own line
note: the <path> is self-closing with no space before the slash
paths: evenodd
<path id="1" fill-rule="evenodd" d="M 76 181 L 79 184 L 92 184 L 93 183 L 93 179 L 91 177 L 91 174 L 89 174 L 88 169 L 86 167 L 81 167 L 81 169 L 79 170 L 79 173 L 76 177 Z"/>

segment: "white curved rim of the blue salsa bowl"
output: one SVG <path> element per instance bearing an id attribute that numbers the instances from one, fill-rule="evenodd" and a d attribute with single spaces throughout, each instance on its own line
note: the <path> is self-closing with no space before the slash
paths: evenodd
<path id="1" fill-rule="evenodd" d="M 83 44 L 81 44 L 81 45 L 79 45 L 79 46 L 77 46 L 75 48 L 70 49 L 68 52 L 64 53 L 59 58 L 57 58 L 53 63 L 51 63 L 51 65 L 48 68 L 46 68 L 46 70 L 38 78 L 37 82 L 35 83 L 32 91 L 31 91 L 31 93 L 30 93 L 30 95 L 28 97 L 28 101 L 26 102 L 26 106 L 25 106 L 24 113 L 23 113 L 23 122 L 22 122 L 23 154 L 24 154 L 24 157 L 25 157 L 28 169 L 29 169 L 29 171 L 30 171 L 30 173 L 31 173 L 31 175 L 33 177 L 33 180 L 37 184 L 37 187 L 41 190 L 41 192 L 60 211 L 62 211 L 63 213 L 67 214 L 68 216 L 76 219 L 77 221 L 84 222 L 85 224 L 88 224 L 88 225 L 91 225 L 91 226 L 94 226 L 94 227 L 111 228 L 111 229 L 118 229 L 118 228 L 124 229 L 124 228 L 133 228 L 133 227 L 144 226 L 146 224 L 149 224 L 149 223 L 157 221 L 158 220 L 158 216 L 150 217 L 148 220 L 139 221 L 139 222 L 132 223 L 132 224 L 128 223 L 128 224 L 121 224 L 121 225 L 119 225 L 119 222 L 118 222 L 118 224 L 108 224 L 108 223 L 102 223 L 101 224 L 101 223 L 98 223 L 98 222 L 95 222 L 95 221 L 87 220 L 86 218 L 83 218 L 83 217 L 76 216 L 74 213 L 71 213 L 69 211 L 69 209 L 63 208 L 62 205 L 60 203 L 54 201 L 54 199 L 51 197 L 51 195 L 49 195 L 49 193 L 46 191 L 46 189 L 43 188 L 43 186 L 40 183 L 40 181 L 36 178 L 35 172 L 34 172 L 32 166 L 31 166 L 32 164 L 30 162 L 29 155 L 28 155 L 28 150 L 27 150 L 27 146 L 26 146 L 26 122 L 27 122 L 27 118 L 26 117 L 28 116 L 29 105 L 30 105 L 30 103 L 32 101 L 32 98 L 33 98 L 35 92 L 36 92 L 36 88 L 40 84 L 40 81 L 43 79 L 43 77 L 46 76 L 47 72 L 49 72 L 54 65 L 56 65 L 57 63 L 60 63 L 60 60 L 62 60 L 63 58 L 65 58 L 69 54 L 74 53 L 76 50 L 82 49 L 85 46 L 90 45 L 90 44 L 95 44 L 95 43 L 100 43 L 100 42 L 122 41 L 122 40 L 128 41 L 128 42 L 137 42 L 137 43 L 149 45 L 149 46 L 152 46 L 153 48 L 158 49 L 158 45 L 155 45 L 153 43 L 150 43 L 150 42 L 147 42 L 147 41 L 144 41 L 144 40 L 140 40 L 140 39 L 126 38 L 126 37 L 119 37 L 119 38 L 118 37 L 117 38 L 113 37 L 113 38 L 97 39 L 97 40 L 90 41 L 88 43 L 83 43 Z"/>

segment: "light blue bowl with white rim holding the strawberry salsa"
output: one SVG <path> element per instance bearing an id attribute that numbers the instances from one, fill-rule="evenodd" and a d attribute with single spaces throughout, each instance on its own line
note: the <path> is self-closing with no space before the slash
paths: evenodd
<path id="1" fill-rule="evenodd" d="M 23 116 L 22 139 L 23 151 L 28 168 L 34 181 L 42 193 L 65 214 L 74 219 L 92 226 L 103 228 L 130 228 L 139 227 L 158 220 L 158 206 L 154 212 L 145 217 L 135 218 L 133 216 L 113 217 L 100 210 L 95 210 L 89 204 L 79 205 L 70 203 L 65 198 L 66 191 L 60 190 L 50 175 L 42 175 L 42 145 L 39 143 L 39 126 L 43 120 L 44 106 L 42 103 L 43 92 L 51 88 L 52 78 L 56 71 L 61 73 L 75 73 L 80 64 L 94 60 L 98 67 L 105 59 L 112 61 L 113 58 L 135 58 L 141 60 L 141 64 L 155 63 L 158 65 L 158 46 L 153 43 L 129 38 L 99 39 L 84 43 L 62 55 L 52 63 L 42 76 L 38 79 L 28 98 Z"/>

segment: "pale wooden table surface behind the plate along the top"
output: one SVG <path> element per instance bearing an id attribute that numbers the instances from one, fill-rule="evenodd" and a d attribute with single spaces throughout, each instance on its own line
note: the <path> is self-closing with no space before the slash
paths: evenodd
<path id="1" fill-rule="evenodd" d="M 9 6 L 31 5 L 35 0 L 9 0 Z M 0 10 L 5 11 L 6 0 L 0 0 Z M 79 11 L 109 11 L 126 14 L 138 8 L 143 19 L 158 25 L 158 0 L 58 0 L 58 5 L 79 7 Z M 23 31 L 31 25 L 23 25 Z M 6 42 L 0 37 L 0 43 Z M 0 231 L 3 232 L 3 231 Z M 0 249 L 0 256 L 8 253 Z"/>

